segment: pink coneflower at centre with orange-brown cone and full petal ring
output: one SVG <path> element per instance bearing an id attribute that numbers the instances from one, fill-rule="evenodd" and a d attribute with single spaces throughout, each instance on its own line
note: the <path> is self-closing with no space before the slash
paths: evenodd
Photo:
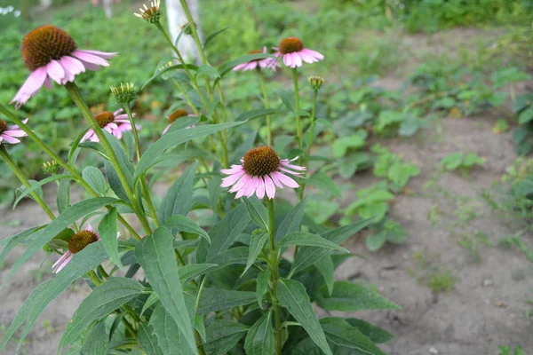
<path id="1" fill-rule="evenodd" d="M 231 169 L 220 170 L 229 175 L 222 179 L 221 187 L 233 185 L 230 193 L 236 193 L 235 199 L 242 196 L 251 197 L 254 193 L 262 199 L 267 194 L 269 199 L 274 199 L 275 186 L 283 188 L 283 185 L 297 188 L 298 184 L 285 174 L 300 176 L 306 168 L 293 165 L 298 157 L 288 160 L 280 159 L 270 146 L 259 146 L 244 154 L 243 165 L 232 165 Z M 297 170 L 297 171 L 292 171 Z"/>

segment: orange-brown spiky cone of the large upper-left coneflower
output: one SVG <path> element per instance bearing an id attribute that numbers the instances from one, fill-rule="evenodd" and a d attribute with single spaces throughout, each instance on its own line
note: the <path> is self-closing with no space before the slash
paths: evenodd
<path id="1" fill-rule="evenodd" d="M 52 60 L 76 51 L 76 42 L 61 28 L 44 25 L 36 28 L 22 40 L 22 59 L 29 70 L 44 67 Z"/>

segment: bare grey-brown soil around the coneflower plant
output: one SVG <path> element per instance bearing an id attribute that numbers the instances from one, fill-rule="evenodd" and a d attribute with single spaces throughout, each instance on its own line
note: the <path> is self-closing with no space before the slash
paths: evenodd
<path id="1" fill-rule="evenodd" d="M 404 36 L 403 43 L 420 51 L 439 52 L 447 43 L 467 46 L 491 35 L 479 30 L 452 30 L 435 36 Z M 454 41 L 456 38 L 461 44 Z M 414 57 L 424 55 L 418 52 Z M 406 67 L 412 66 L 412 62 L 406 63 Z M 397 88 L 402 68 L 394 72 L 377 84 Z M 387 354 L 497 355 L 499 344 L 521 345 L 525 353 L 533 349 L 531 305 L 526 302 L 533 296 L 532 264 L 520 252 L 497 246 L 502 237 L 516 231 L 495 215 L 480 195 L 481 189 L 494 188 L 493 179 L 501 177 L 516 158 L 511 134 L 492 133 L 495 118 L 499 118 L 492 115 L 445 118 L 416 138 L 380 141 L 393 153 L 416 162 L 421 170 L 410 182 L 410 193 L 398 195 L 392 207 L 392 217 L 408 232 L 408 240 L 400 246 L 386 245 L 376 253 L 365 248 L 363 236 L 348 241 L 348 248 L 366 258 L 346 261 L 338 269 L 337 278 L 374 284 L 384 296 L 402 305 L 402 311 L 354 314 L 396 335 L 382 346 Z M 438 174 L 440 159 L 457 151 L 474 152 L 485 157 L 486 163 L 465 177 L 454 172 Z M 430 181 L 434 184 L 424 189 Z M 376 180 L 362 174 L 353 182 L 364 187 Z M 346 203 L 353 200 L 354 196 L 346 197 Z M 20 225 L 12 221 L 20 221 Z M 26 201 L 14 211 L 2 210 L 0 238 L 44 223 L 44 214 Z M 525 238 L 531 241 L 530 235 Z M 465 239 L 473 241 L 475 248 L 459 246 L 459 241 Z M 7 263 L 0 265 L 0 280 L 21 250 L 15 249 Z M 49 270 L 55 258 L 41 264 L 42 256 L 34 257 L 0 291 L 0 334 L 31 289 L 52 277 Z M 427 281 L 438 274 L 456 280 L 451 291 L 435 293 L 427 286 Z M 88 292 L 79 284 L 52 302 L 37 320 L 23 353 L 54 354 L 62 329 Z M 15 342 L 10 343 L 5 353 L 12 354 L 15 347 Z"/>

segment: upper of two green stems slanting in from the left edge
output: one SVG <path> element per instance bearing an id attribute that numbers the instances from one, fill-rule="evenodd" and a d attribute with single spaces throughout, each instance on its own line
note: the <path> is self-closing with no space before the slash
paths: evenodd
<path id="1" fill-rule="evenodd" d="M 74 167 L 71 167 L 70 165 L 68 165 L 68 163 L 64 162 L 58 154 L 55 154 L 52 151 L 52 149 L 49 146 L 47 146 L 44 143 L 44 141 L 36 135 L 36 133 L 34 133 L 33 130 L 30 130 L 28 126 L 24 122 L 22 122 L 22 120 L 20 120 L 19 117 L 12 114 L 11 111 L 9 111 L 7 108 L 5 108 L 1 104 L 0 104 L 0 113 L 5 114 L 7 117 L 10 118 L 10 120 L 12 120 L 12 122 L 15 122 L 15 124 L 17 124 L 20 127 L 20 130 L 24 130 L 24 132 L 28 135 L 28 137 L 31 138 L 36 143 L 36 145 L 41 148 L 41 150 L 43 150 L 46 154 L 48 154 L 55 162 L 60 164 L 60 166 L 64 170 L 67 170 L 68 172 L 70 172 L 72 176 L 76 179 L 76 182 L 82 185 L 88 193 L 91 193 L 91 195 L 94 197 L 99 196 L 99 193 L 97 193 L 91 187 L 91 185 L 87 184 L 87 182 L 84 180 L 84 177 L 82 177 L 80 173 Z M 112 206 L 106 206 L 106 208 L 112 209 Z M 118 215 L 118 220 L 131 233 L 131 235 L 133 235 L 133 237 L 136 240 L 140 241 L 139 233 L 137 233 L 133 229 L 133 227 L 131 227 L 131 225 L 124 219 L 124 217 L 122 217 L 121 215 Z"/>

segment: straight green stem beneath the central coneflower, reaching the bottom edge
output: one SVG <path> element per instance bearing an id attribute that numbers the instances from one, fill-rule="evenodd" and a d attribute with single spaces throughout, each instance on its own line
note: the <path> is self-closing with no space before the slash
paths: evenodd
<path id="1" fill-rule="evenodd" d="M 278 257 L 275 249 L 274 241 L 274 200 L 267 199 L 268 205 L 268 243 L 270 246 L 269 268 L 270 281 L 272 282 L 272 306 L 274 308 L 274 336 L 275 336 L 275 353 L 282 354 L 282 313 L 277 299 L 277 284 L 278 284 Z"/>

